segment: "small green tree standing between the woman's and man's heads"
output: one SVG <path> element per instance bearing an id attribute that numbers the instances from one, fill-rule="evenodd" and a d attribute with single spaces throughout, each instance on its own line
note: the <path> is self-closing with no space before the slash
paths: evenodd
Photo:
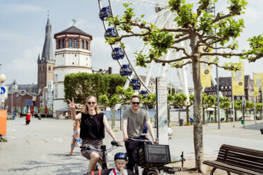
<path id="1" fill-rule="evenodd" d="M 111 97 L 107 97 L 106 94 L 99 96 L 99 102 L 111 108 L 111 129 L 113 131 L 115 130 L 115 106 L 116 104 L 127 103 L 128 101 L 130 101 L 133 94 L 134 94 L 134 90 L 132 90 L 131 87 L 125 90 L 124 88 L 117 86 L 116 93 L 111 95 Z"/>

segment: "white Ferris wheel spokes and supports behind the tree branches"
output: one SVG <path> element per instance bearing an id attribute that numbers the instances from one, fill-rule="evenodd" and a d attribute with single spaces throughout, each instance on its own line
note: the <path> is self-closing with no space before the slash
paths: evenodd
<path id="1" fill-rule="evenodd" d="M 189 1 L 191 3 L 196 3 L 197 1 Z M 177 28 L 177 23 L 174 22 L 175 15 L 173 12 L 171 12 L 168 8 L 168 0 L 98 0 L 99 3 L 99 10 L 100 12 L 102 9 L 108 8 L 111 10 L 111 15 L 114 17 L 115 14 L 122 14 L 123 10 L 120 11 L 119 6 L 122 5 L 122 3 L 131 3 L 134 10 L 136 8 L 143 9 L 145 8 L 151 8 L 152 14 L 148 12 L 148 15 L 145 15 L 143 17 L 143 20 L 145 22 L 150 22 L 154 25 L 156 25 L 158 28 Z M 143 14 L 143 12 L 141 12 Z M 100 14 L 99 14 L 100 15 Z M 144 14 L 143 14 L 144 15 Z M 101 18 L 102 19 L 102 18 Z M 106 20 L 102 20 L 103 26 L 105 31 L 110 27 L 108 26 L 108 22 Z M 140 28 L 134 27 L 132 29 L 134 32 L 138 32 Z M 118 35 L 125 34 L 125 31 L 118 31 Z M 138 40 L 141 40 L 138 38 Z M 179 47 L 184 47 L 188 53 L 191 52 L 191 48 L 189 47 L 189 40 L 184 40 L 183 42 L 178 43 Z M 120 47 L 120 46 L 111 46 L 111 48 L 114 50 L 114 47 Z M 143 55 L 147 55 L 150 49 L 149 44 L 141 44 L 141 48 L 138 50 L 141 51 Z M 162 65 L 160 63 L 148 63 L 146 68 L 138 67 L 134 63 L 134 57 L 133 55 L 128 55 L 127 51 L 124 50 L 124 55 L 126 58 L 126 61 L 129 63 L 129 66 L 132 69 L 132 74 L 128 76 L 127 82 L 125 83 L 125 88 L 129 86 L 129 83 L 132 78 L 138 78 L 138 80 L 141 82 L 141 90 L 147 90 L 148 93 L 152 94 L 154 93 L 154 88 L 152 87 L 152 83 L 150 82 L 151 79 L 155 79 L 157 76 L 164 76 L 168 78 L 168 82 L 170 82 L 170 85 L 168 85 L 168 88 L 172 89 L 173 85 L 175 85 L 174 88 L 179 89 L 180 92 L 183 92 L 186 94 L 187 97 L 189 97 L 189 88 L 192 88 L 189 86 L 189 82 L 192 82 L 192 69 L 191 65 L 186 65 L 182 68 L 174 68 L 171 67 L 170 64 L 166 63 L 165 65 Z M 133 51 L 135 52 L 135 50 Z M 166 53 L 166 56 L 164 56 L 165 60 L 173 60 L 175 58 L 182 57 L 182 51 L 173 51 L 168 50 L 168 53 Z M 122 67 L 122 61 L 125 61 L 125 58 L 123 60 L 117 60 L 120 67 Z M 140 76 L 143 74 L 144 78 Z M 176 79 L 176 83 L 175 83 Z M 169 81 L 170 80 L 170 81 Z M 212 82 L 214 85 L 216 85 L 215 78 L 212 74 Z M 172 90 L 171 90 L 172 91 Z"/>

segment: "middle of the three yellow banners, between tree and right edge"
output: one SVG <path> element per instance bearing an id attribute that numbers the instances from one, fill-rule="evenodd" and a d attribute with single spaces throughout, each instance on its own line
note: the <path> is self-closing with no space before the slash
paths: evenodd
<path id="1" fill-rule="evenodd" d="M 245 95 L 244 76 L 244 63 L 241 63 L 241 69 L 236 72 L 232 72 L 233 95 Z"/>

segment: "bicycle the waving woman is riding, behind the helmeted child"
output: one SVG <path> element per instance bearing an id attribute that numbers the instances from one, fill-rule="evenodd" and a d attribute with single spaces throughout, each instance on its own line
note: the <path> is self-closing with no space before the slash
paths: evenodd
<path id="1" fill-rule="evenodd" d="M 81 149 L 94 150 L 94 151 L 102 152 L 102 169 L 96 169 L 96 171 L 94 171 L 94 172 L 86 173 L 83 175 L 108 175 L 109 172 L 111 172 L 112 169 L 108 169 L 108 167 L 107 167 L 106 155 L 107 155 L 107 153 L 113 151 L 113 149 L 116 149 L 117 147 L 122 147 L 122 145 L 119 145 L 115 141 L 111 141 L 111 145 L 112 145 L 112 147 L 109 149 L 106 149 L 106 145 L 102 145 L 100 147 L 100 149 L 95 149 L 94 147 L 91 147 L 89 145 L 86 147 L 83 147 L 83 146 L 80 147 Z M 127 171 L 128 171 L 128 175 L 135 175 L 134 172 L 129 171 L 129 169 L 127 169 Z"/>

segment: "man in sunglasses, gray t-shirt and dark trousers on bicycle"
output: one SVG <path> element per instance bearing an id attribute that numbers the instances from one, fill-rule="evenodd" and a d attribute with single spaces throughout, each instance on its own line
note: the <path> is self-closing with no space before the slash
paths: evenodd
<path id="1" fill-rule="evenodd" d="M 125 148 L 129 158 L 127 169 L 131 171 L 134 171 L 135 151 L 139 142 L 134 140 L 128 141 L 128 138 L 145 140 L 145 135 L 142 135 L 142 132 L 143 123 L 146 122 L 147 128 L 150 132 L 150 135 L 152 136 L 152 140 L 155 142 L 154 131 L 152 129 L 148 111 L 140 109 L 140 103 L 140 98 L 134 95 L 131 97 L 131 108 L 125 110 L 122 115 L 122 132 L 124 136 L 123 140 L 125 141 Z"/>

